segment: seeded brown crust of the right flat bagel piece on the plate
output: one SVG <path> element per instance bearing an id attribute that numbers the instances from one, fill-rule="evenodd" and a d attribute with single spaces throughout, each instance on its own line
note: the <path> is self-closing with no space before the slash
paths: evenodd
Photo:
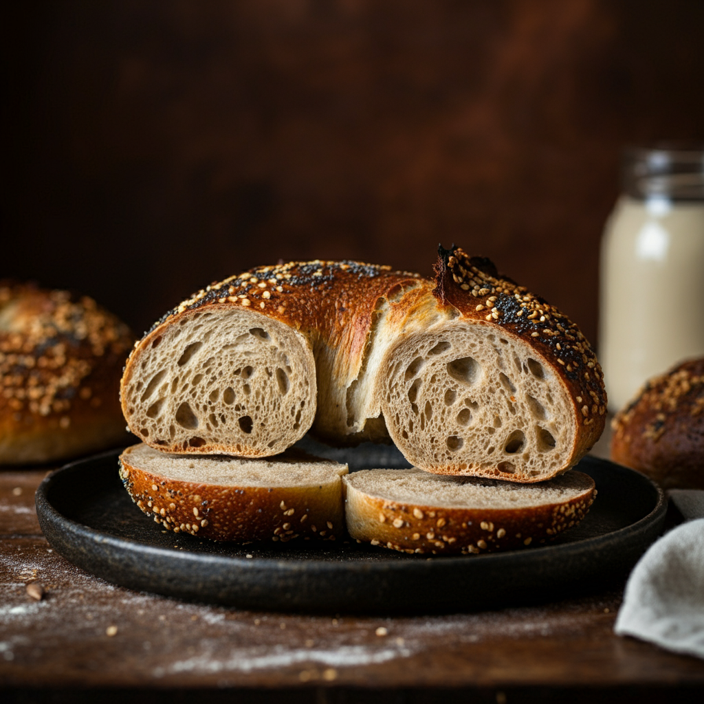
<path id="1" fill-rule="evenodd" d="M 541 545 L 579 523 L 589 511 L 595 485 L 588 475 L 577 474 L 590 486 L 570 501 L 517 509 L 400 503 L 365 494 L 344 479 L 347 527 L 353 538 L 409 554 L 467 555 Z"/>

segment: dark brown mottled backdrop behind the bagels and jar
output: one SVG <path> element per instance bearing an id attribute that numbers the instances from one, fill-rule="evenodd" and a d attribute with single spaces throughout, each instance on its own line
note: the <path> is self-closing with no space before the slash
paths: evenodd
<path id="1" fill-rule="evenodd" d="M 0 274 L 141 332 L 278 258 L 439 241 L 596 335 L 622 145 L 704 137 L 700 0 L 18 2 Z"/>

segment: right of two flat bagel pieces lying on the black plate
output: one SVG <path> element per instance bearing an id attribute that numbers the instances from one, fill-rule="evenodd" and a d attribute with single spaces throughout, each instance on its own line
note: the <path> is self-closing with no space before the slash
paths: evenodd
<path id="1" fill-rule="evenodd" d="M 551 541 L 579 523 L 596 497 L 572 470 L 541 484 L 361 470 L 343 477 L 345 519 L 360 541 L 413 554 L 491 553 Z"/>

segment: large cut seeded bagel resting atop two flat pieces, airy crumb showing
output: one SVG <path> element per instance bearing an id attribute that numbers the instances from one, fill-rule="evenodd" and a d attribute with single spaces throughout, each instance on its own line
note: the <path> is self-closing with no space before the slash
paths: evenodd
<path id="1" fill-rule="evenodd" d="M 275 455 L 312 427 L 514 482 L 575 465 L 606 403 L 577 326 L 458 248 L 434 280 L 313 261 L 213 284 L 139 342 L 121 394 L 132 432 L 170 453 Z"/>

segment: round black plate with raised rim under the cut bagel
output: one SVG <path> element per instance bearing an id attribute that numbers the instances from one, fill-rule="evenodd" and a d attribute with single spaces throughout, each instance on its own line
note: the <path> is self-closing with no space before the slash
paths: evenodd
<path id="1" fill-rule="evenodd" d="M 394 453 L 371 446 L 333 454 L 360 469 L 403 465 Z M 131 589 L 249 609 L 434 612 L 565 596 L 623 576 L 660 533 L 667 508 L 643 474 L 587 457 L 578 468 L 596 482 L 596 501 L 549 546 L 433 558 L 356 541 L 239 546 L 165 532 L 123 489 L 118 454 L 66 465 L 39 486 L 37 515 L 54 550 Z"/>

